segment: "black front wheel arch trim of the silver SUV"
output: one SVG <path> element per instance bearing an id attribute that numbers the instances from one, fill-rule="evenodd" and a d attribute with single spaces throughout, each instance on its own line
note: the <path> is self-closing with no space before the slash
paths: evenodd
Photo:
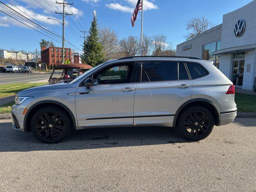
<path id="1" fill-rule="evenodd" d="M 58 101 L 44 100 L 44 101 L 40 101 L 40 102 L 33 104 L 27 110 L 25 117 L 24 117 L 24 123 L 23 123 L 25 132 L 31 131 L 30 119 L 32 118 L 34 112 L 36 112 L 36 110 L 38 110 L 40 107 L 46 107 L 46 106 L 56 106 L 56 107 L 59 107 L 59 108 L 62 108 L 63 110 L 65 110 L 67 112 L 67 114 L 69 115 L 70 120 L 72 121 L 71 124 L 73 126 L 73 129 L 76 130 L 76 119 L 74 117 L 74 114 L 71 112 L 71 110 L 66 105 L 64 105 Z"/>

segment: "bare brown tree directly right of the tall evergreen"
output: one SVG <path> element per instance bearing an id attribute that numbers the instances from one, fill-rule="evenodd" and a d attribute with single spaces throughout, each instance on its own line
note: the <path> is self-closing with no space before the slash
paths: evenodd
<path id="1" fill-rule="evenodd" d="M 118 36 L 112 28 L 100 29 L 100 43 L 103 47 L 104 61 L 116 59 L 118 52 Z"/>

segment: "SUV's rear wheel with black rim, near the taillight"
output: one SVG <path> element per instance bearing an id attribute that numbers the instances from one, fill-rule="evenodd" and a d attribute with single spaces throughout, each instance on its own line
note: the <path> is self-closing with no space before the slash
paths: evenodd
<path id="1" fill-rule="evenodd" d="M 182 112 L 178 127 L 185 138 L 198 141 L 210 135 L 214 127 L 214 118 L 208 109 L 194 106 Z"/>

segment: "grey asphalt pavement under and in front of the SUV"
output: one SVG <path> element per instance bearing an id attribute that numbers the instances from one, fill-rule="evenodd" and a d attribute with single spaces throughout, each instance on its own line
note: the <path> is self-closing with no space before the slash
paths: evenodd
<path id="1" fill-rule="evenodd" d="M 256 118 L 237 118 L 199 142 L 174 128 L 104 128 L 43 144 L 0 120 L 0 190 L 256 192 L 255 131 Z"/>

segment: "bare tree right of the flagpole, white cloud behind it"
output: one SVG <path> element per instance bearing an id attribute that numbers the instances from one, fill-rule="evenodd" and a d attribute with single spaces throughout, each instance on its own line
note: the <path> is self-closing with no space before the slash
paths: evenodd
<path id="1" fill-rule="evenodd" d="M 152 37 L 152 46 L 153 46 L 152 55 L 162 56 L 166 50 L 169 50 L 172 48 L 173 44 L 172 42 L 167 41 L 166 35 L 160 34 L 160 35 L 154 35 Z"/>

